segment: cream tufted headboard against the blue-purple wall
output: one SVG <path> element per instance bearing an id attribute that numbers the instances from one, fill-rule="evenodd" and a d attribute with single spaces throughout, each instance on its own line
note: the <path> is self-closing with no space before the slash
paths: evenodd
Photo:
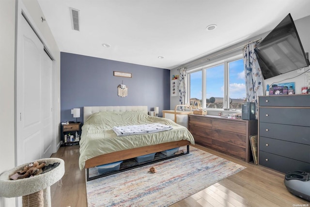
<path id="1" fill-rule="evenodd" d="M 99 111 L 143 111 L 148 113 L 147 106 L 84 106 L 83 108 L 83 120 L 84 122 L 92 114 Z"/>

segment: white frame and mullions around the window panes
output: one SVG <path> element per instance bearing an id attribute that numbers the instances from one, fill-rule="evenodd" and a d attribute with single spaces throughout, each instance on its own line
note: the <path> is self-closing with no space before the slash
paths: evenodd
<path id="1" fill-rule="evenodd" d="M 209 63 L 209 64 L 205 64 L 203 66 L 197 67 L 197 68 L 193 68 L 190 70 L 187 70 L 187 83 L 186 83 L 186 90 L 188 92 L 190 92 L 190 74 L 197 72 L 197 71 L 202 71 L 202 104 L 201 106 L 206 106 L 206 70 L 208 68 L 211 67 L 216 67 L 218 65 L 224 64 L 224 109 L 210 109 L 208 108 L 208 110 L 217 110 L 217 111 L 223 111 L 223 110 L 229 110 L 229 98 L 228 98 L 228 94 L 229 94 L 229 68 L 228 68 L 228 63 L 229 62 L 233 62 L 236 60 L 240 60 L 243 58 L 243 54 L 238 54 L 238 55 L 234 55 L 232 57 L 227 57 L 225 59 L 221 59 L 218 60 L 216 62 L 213 63 Z M 190 103 L 190 93 L 186 93 L 186 103 Z M 240 109 L 241 111 L 241 109 Z"/>

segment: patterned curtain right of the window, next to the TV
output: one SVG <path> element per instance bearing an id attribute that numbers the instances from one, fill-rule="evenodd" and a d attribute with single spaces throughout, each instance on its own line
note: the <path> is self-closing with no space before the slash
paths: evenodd
<path id="1" fill-rule="evenodd" d="M 263 96 L 262 71 L 258 64 L 254 48 L 255 43 L 248 44 L 243 49 L 244 72 L 246 78 L 247 102 L 255 102 L 255 115 L 258 117 L 258 96 Z"/>

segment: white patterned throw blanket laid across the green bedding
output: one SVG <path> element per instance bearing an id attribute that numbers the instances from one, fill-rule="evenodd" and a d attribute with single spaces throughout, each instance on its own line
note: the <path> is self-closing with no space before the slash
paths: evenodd
<path id="1" fill-rule="evenodd" d="M 167 131 L 171 129 L 172 126 L 167 126 L 160 123 L 113 127 L 113 131 L 117 134 L 117 136 L 149 134 L 159 131 Z"/>

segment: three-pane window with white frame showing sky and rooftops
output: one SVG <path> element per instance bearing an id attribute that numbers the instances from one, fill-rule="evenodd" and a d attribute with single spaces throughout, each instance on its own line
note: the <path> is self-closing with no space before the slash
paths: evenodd
<path id="1" fill-rule="evenodd" d="M 241 110 L 246 97 L 242 58 L 218 61 L 188 73 L 189 98 L 194 109 Z"/>

